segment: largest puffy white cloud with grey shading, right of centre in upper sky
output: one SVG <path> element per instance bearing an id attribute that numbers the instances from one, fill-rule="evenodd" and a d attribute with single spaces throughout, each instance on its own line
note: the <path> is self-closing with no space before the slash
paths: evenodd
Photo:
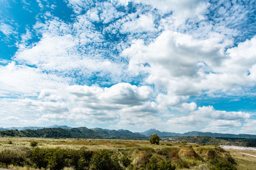
<path id="1" fill-rule="evenodd" d="M 201 40 L 164 31 L 149 45 L 134 41 L 122 54 L 130 58 L 129 71 L 149 73 L 147 83 L 153 83 L 171 96 L 189 96 L 208 89 L 208 85 L 200 82 L 208 76 L 203 69 L 220 66 L 222 60 L 227 59 L 224 47 L 221 35 Z"/>

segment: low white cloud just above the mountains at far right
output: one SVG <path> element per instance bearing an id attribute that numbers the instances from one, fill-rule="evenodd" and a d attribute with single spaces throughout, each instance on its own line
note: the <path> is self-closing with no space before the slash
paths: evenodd
<path id="1" fill-rule="evenodd" d="M 211 132 L 236 132 L 244 122 L 250 118 L 249 113 L 242 111 L 214 110 L 212 106 L 199 107 L 186 116 L 173 117 L 168 124 L 175 127 L 176 131 L 211 131 Z M 177 129 L 180 128 L 180 130 Z"/>

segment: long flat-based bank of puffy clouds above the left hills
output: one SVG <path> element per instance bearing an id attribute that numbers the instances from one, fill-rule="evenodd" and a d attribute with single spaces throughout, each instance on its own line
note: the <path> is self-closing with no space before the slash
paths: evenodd
<path id="1" fill-rule="evenodd" d="M 152 89 L 147 86 L 136 87 L 129 83 L 118 83 L 112 87 L 96 85 L 73 85 L 53 90 L 42 89 L 34 99 L 13 99 L 6 104 L 18 110 L 12 114 L 34 115 L 35 122 L 95 122 L 117 123 L 123 117 L 136 118 L 155 117 L 159 113 L 157 103 L 151 102 Z M 3 104 L 4 101 L 0 101 Z M 3 108 L 6 110 L 6 108 Z M 17 114 L 17 115 L 19 115 Z M 3 115 L 1 115 L 3 117 Z M 26 122 L 26 117 L 19 117 Z"/>

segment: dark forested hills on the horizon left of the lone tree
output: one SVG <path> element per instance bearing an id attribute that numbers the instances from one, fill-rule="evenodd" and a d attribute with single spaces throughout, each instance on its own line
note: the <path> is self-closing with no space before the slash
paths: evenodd
<path id="1" fill-rule="evenodd" d="M 148 139 L 140 133 L 127 130 L 88 129 L 77 127 L 72 129 L 44 128 L 38 130 L 6 130 L 0 131 L 0 136 L 28 137 L 28 138 L 94 138 L 94 139 Z"/>

